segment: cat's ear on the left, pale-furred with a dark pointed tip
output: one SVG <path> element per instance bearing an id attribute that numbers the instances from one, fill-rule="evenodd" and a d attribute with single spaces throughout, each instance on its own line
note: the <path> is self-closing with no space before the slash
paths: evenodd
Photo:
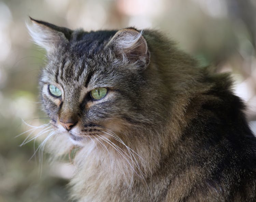
<path id="1" fill-rule="evenodd" d="M 31 17 L 30 23 L 27 23 L 29 34 L 33 41 L 44 48 L 47 54 L 53 53 L 62 44 L 66 44 L 72 34 L 72 30 L 64 27 L 58 27 L 48 22 L 35 20 Z"/>

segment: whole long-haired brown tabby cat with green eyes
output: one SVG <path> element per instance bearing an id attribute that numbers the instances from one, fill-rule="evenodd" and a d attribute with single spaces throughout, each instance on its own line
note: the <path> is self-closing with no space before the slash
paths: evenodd
<path id="1" fill-rule="evenodd" d="M 79 147 L 77 201 L 256 201 L 256 139 L 227 74 L 157 31 L 31 19 L 55 155 Z"/>

